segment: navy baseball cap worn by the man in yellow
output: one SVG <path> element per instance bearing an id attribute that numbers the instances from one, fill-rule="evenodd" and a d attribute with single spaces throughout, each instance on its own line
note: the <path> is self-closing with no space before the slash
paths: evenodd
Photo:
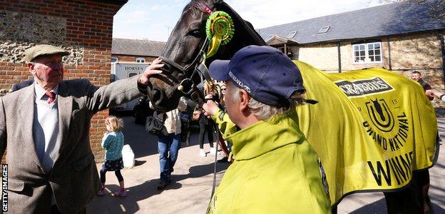
<path id="1" fill-rule="evenodd" d="M 286 106 L 292 93 L 305 90 L 295 63 L 271 46 L 244 47 L 230 61 L 213 61 L 209 70 L 215 80 L 230 80 L 270 106 Z"/>

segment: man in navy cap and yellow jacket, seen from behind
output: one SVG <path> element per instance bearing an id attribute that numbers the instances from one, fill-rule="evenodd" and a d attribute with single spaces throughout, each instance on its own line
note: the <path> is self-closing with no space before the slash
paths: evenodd
<path id="1" fill-rule="evenodd" d="M 203 109 L 234 161 L 207 213 L 329 213 L 324 172 L 298 123 L 295 106 L 308 101 L 297 66 L 270 46 L 247 46 L 213 61 L 210 75 L 225 81 L 227 113 L 213 101 Z"/>

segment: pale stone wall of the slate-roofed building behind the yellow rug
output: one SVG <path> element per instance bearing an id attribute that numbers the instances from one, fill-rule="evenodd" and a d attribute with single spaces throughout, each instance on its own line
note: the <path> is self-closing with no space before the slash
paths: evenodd
<path id="1" fill-rule="evenodd" d="M 441 32 L 445 34 L 445 31 Z M 342 71 L 369 67 L 392 69 L 409 77 L 412 71 L 419 71 L 432 88 L 445 90 L 442 68 L 441 44 L 436 32 L 389 36 L 382 41 L 382 63 L 354 63 L 352 42 L 341 42 Z M 327 72 L 338 72 L 337 43 L 300 46 L 299 60 Z M 391 66 L 389 65 L 389 49 Z M 445 108 L 445 103 L 434 100 L 434 107 Z"/>

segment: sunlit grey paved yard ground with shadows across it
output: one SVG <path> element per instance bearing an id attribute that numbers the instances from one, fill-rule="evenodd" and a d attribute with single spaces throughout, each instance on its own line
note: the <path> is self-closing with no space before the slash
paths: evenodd
<path id="1" fill-rule="evenodd" d="M 179 151 L 173 183 L 163 191 L 156 190 L 159 178 L 157 139 L 135 125 L 133 118 L 126 122 L 126 143 L 135 153 L 136 166 L 122 171 L 128 188 L 127 198 L 115 198 L 111 194 L 94 198 L 88 213 L 205 213 L 210 200 L 213 183 L 214 157 L 198 156 L 196 130 L 190 142 Z M 445 119 L 439 118 L 439 132 L 445 142 Z M 205 149 L 208 151 L 208 144 Z M 208 154 L 209 155 L 209 154 Z M 220 158 L 220 157 L 218 157 Z M 98 168 L 100 168 L 98 164 Z M 223 177 L 228 164 L 218 164 L 217 180 Z M 439 161 L 430 170 L 429 195 L 435 213 L 445 213 L 445 148 L 440 146 Z M 107 174 L 106 190 L 109 193 L 119 188 L 116 176 Z M 347 196 L 338 206 L 338 213 L 386 213 L 382 193 L 356 193 Z"/>

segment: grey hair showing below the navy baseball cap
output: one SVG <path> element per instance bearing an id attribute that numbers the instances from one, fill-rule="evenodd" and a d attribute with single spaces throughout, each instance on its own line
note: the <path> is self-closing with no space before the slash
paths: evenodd
<path id="1" fill-rule="evenodd" d="M 235 101 L 240 101 L 240 90 L 241 88 L 234 87 L 235 89 L 232 90 L 232 98 Z M 255 100 L 255 98 L 252 98 L 250 96 L 250 100 L 248 103 L 248 106 L 250 108 L 250 111 L 255 115 L 258 119 L 261 121 L 266 121 L 269 118 L 272 118 L 273 116 L 284 113 L 285 111 L 295 108 L 297 106 L 301 106 L 306 104 L 305 101 L 305 91 L 295 91 L 292 96 L 288 99 L 290 105 L 285 107 L 276 107 L 276 106 L 270 106 L 265 103 L 262 103 L 260 101 Z"/>

